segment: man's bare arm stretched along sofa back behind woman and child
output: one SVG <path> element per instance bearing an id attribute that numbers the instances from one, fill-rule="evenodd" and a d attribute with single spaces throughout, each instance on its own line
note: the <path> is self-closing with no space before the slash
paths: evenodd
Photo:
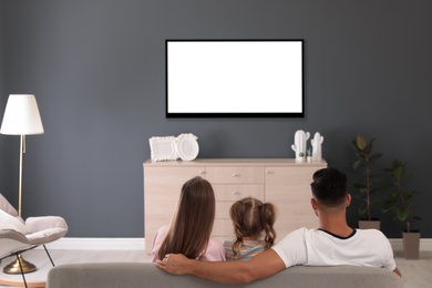
<path id="1" fill-rule="evenodd" d="M 248 261 L 198 261 L 181 254 L 169 254 L 156 266 L 175 275 L 191 274 L 200 278 L 225 284 L 250 282 L 284 270 L 285 264 L 279 255 L 268 249 Z"/>

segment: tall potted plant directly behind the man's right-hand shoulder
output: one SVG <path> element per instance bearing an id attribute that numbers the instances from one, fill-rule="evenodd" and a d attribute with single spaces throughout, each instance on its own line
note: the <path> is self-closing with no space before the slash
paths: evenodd
<path id="1" fill-rule="evenodd" d="M 361 176 L 352 183 L 352 188 L 358 192 L 357 196 L 362 200 L 359 207 L 359 227 L 361 229 L 376 228 L 380 229 L 380 220 L 372 217 L 371 208 L 376 204 L 372 198 L 376 193 L 382 191 L 382 187 L 377 186 L 379 179 L 372 174 L 372 164 L 382 156 L 381 153 L 373 153 L 373 136 L 370 141 L 366 141 L 362 135 L 356 135 L 351 142 L 357 161 L 352 164 L 354 171 L 361 169 Z"/>

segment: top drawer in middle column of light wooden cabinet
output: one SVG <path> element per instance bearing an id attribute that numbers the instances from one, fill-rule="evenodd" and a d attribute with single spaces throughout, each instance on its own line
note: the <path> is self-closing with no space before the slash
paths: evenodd
<path id="1" fill-rule="evenodd" d="M 206 178 L 212 184 L 264 183 L 264 167 L 206 167 Z"/>

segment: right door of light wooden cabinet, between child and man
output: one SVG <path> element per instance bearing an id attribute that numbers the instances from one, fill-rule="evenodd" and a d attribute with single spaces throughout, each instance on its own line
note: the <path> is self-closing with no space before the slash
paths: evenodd
<path id="1" fill-rule="evenodd" d="M 265 198 L 278 209 L 275 224 L 277 241 L 297 228 L 318 227 L 318 217 L 310 205 L 310 183 L 319 168 L 321 167 L 266 167 Z"/>

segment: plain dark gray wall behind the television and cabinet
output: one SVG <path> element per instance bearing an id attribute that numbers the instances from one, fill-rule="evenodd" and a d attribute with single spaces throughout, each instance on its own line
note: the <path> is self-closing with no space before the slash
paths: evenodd
<path id="1" fill-rule="evenodd" d="M 429 176 L 432 2 L 344 0 L 2 1 L 0 107 L 34 93 L 45 133 L 28 136 L 24 216 L 62 215 L 70 237 L 142 237 L 151 136 L 189 132 L 199 157 L 294 157 L 301 128 L 352 179 L 350 142 L 377 136 L 380 171 L 409 162 L 423 237 Z M 165 39 L 305 39 L 304 119 L 165 119 Z M 1 70 L 0 70 L 1 71 Z M 0 135 L 0 191 L 17 202 L 19 137 Z M 349 222 L 357 224 L 356 203 Z M 383 232 L 401 225 L 380 215 Z"/>

